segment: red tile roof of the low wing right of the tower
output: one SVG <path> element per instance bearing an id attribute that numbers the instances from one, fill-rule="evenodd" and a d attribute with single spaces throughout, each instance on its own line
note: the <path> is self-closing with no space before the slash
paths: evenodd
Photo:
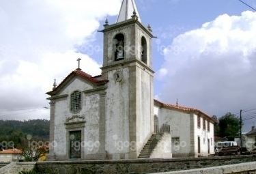
<path id="1" fill-rule="evenodd" d="M 183 112 L 186 112 L 186 113 L 195 113 L 197 115 L 203 115 L 204 117 L 206 117 L 208 120 L 212 121 L 213 123 L 216 122 L 214 119 L 212 119 L 212 117 L 210 117 L 209 115 L 203 113 L 202 111 L 200 111 L 196 108 L 189 108 L 189 107 L 186 107 L 186 106 L 180 106 L 180 105 L 175 105 L 175 104 L 165 104 L 165 103 L 160 102 L 158 100 L 154 100 L 154 104 L 156 104 L 157 106 L 160 106 L 162 108 L 175 109 L 175 110 L 183 111 Z"/>

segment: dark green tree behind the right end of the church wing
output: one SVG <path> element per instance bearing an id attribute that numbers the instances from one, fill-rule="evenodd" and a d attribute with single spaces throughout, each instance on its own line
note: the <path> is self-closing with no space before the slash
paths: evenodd
<path id="1" fill-rule="evenodd" d="M 218 136 L 238 136 L 240 132 L 240 119 L 232 113 L 227 113 L 218 119 Z"/>

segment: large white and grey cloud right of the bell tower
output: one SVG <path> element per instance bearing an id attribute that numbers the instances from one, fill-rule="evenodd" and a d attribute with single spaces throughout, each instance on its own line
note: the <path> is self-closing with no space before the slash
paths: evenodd
<path id="1" fill-rule="evenodd" d="M 256 12 L 223 14 L 165 50 L 160 98 L 222 115 L 256 103 Z M 178 49 L 173 49 L 178 48 Z M 178 50 L 178 51 L 177 51 Z"/>

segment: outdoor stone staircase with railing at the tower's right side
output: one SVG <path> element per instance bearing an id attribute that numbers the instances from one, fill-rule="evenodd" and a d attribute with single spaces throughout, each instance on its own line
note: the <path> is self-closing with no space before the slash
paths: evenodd
<path id="1" fill-rule="evenodd" d="M 162 125 L 160 129 L 158 126 L 155 127 L 156 128 L 154 134 L 152 134 L 150 139 L 147 141 L 138 158 L 150 158 L 150 155 L 156 148 L 156 145 L 162 139 L 163 134 L 170 133 L 170 126 L 167 124 Z"/>

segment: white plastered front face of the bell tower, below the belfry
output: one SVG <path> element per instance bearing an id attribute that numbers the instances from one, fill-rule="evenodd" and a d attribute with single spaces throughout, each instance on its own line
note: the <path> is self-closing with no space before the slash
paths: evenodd
<path id="1" fill-rule="evenodd" d="M 116 70 L 108 72 L 106 93 L 106 151 L 119 159 L 129 153 L 129 70 L 122 69 L 123 80 L 115 81 Z"/>

